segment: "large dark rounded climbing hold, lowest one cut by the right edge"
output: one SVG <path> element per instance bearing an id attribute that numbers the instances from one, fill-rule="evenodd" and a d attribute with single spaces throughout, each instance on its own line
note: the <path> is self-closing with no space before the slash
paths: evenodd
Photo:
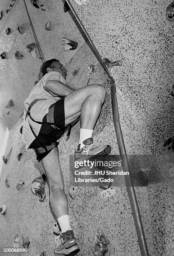
<path id="1" fill-rule="evenodd" d="M 165 141 L 162 151 L 165 159 L 174 162 L 174 136 Z"/>

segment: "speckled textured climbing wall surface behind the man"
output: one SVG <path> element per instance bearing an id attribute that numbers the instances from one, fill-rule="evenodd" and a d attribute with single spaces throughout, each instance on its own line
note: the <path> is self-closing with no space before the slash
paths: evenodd
<path id="1" fill-rule="evenodd" d="M 43 3 L 48 6 L 46 1 Z M 50 12 L 51 17 L 55 15 L 53 8 L 58 11 L 56 3 L 53 1 L 47 7 L 53 12 Z M 80 8 L 73 2 L 82 23 L 102 57 L 108 57 L 111 60 L 122 59 L 123 61 L 122 67 L 114 69 L 114 79 L 117 82 L 120 123 L 129 154 L 160 154 L 164 141 L 173 134 L 174 102 L 169 95 L 173 82 L 173 23 L 169 23 L 165 19 L 165 10 L 168 4 L 169 1 L 145 1 L 144 3 L 137 1 L 132 3 L 131 1 L 96 0 L 90 1 L 89 5 Z M 60 6 L 62 8 L 61 2 Z M 22 8 L 22 4 L 18 8 Z M 57 52 L 59 53 L 58 56 L 61 56 L 62 63 L 66 63 L 67 84 L 78 89 L 86 86 L 89 80 L 89 84 L 97 82 L 106 88 L 105 104 L 94 130 L 94 143 L 108 143 L 112 146 L 111 154 L 118 154 L 107 75 L 89 46 L 83 44 L 84 39 L 80 34 L 72 39 L 80 42 L 82 47 L 73 53 L 63 55 L 62 48 L 55 38 L 55 41 L 50 44 L 50 38 L 44 37 L 41 31 L 43 21 L 44 24 L 46 23 L 44 15 L 48 15 L 48 11 L 39 10 L 39 12 L 41 21 L 38 20 L 38 10 L 33 9 L 31 15 L 33 23 L 35 20 L 35 24 L 37 24 L 35 29 L 44 55 L 52 47 L 49 52 L 50 55 L 45 55 L 45 58 L 49 59 L 54 57 Z M 63 24 L 67 24 L 63 15 L 70 18 L 69 14 L 64 14 L 61 9 L 59 17 L 64 20 L 65 23 Z M 57 22 L 57 16 L 54 16 L 53 22 Z M 56 28 L 54 28 L 54 33 Z M 69 29 L 66 27 L 65 30 L 67 37 L 70 33 Z M 46 31 L 45 33 L 53 32 Z M 74 33 L 77 32 L 75 29 Z M 56 36 L 57 38 L 59 36 L 57 32 Z M 23 47 L 25 48 L 25 46 Z M 55 47 L 57 47 L 56 52 Z M 72 57 L 71 54 L 74 53 L 75 55 Z M 33 60 L 30 55 L 28 58 L 30 58 L 30 64 L 26 62 L 24 65 L 27 72 L 30 70 L 29 67 L 36 67 L 34 64 L 32 65 L 32 61 L 35 65 L 38 61 L 40 65 L 40 60 Z M 70 59 L 71 61 L 69 61 Z M 94 72 L 90 75 L 87 73 L 88 64 L 95 65 Z M 19 66 L 15 66 L 15 68 L 17 72 L 20 72 Z M 75 68 L 80 68 L 80 71 L 72 77 L 71 71 Z M 33 72 L 35 69 L 32 69 Z M 12 79 L 12 74 L 9 74 L 9 79 Z M 31 78 L 34 75 L 35 77 Z M 27 80 L 25 77 L 23 78 L 25 82 L 30 81 L 30 86 L 25 91 L 26 95 L 37 79 L 37 73 L 34 75 L 27 76 Z M 14 83 L 16 84 L 16 82 Z M 19 100 L 21 106 L 22 97 Z M 11 122 L 10 114 L 7 120 L 9 123 Z M 1 246 L 12 246 L 14 236 L 17 233 L 22 236 L 26 232 L 30 238 L 29 255 L 39 255 L 45 250 L 46 255 L 51 256 L 54 255 L 52 233 L 54 218 L 49 207 L 49 189 L 46 185 L 44 202 L 39 202 L 38 198 L 32 195 L 30 191 L 30 183 L 40 175 L 41 169 L 35 159 L 34 152 L 25 151 L 19 133 L 21 123 L 22 119 L 10 131 L 6 151 L 11 146 L 13 148 L 7 165 L 4 164 L 3 166 L 0 180 L 0 205 L 2 203 L 7 205 L 6 215 L 0 215 L 0 227 L 3 234 Z M 65 178 L 65 193 L 70 207 L 70 220 L 80 246 L 78 255 L 93 255 L 92 241 L 97 228 L 100 227 L 110 241 L 109 251 L 106 255 L 140 256 L 134 220 L 125 187 L 115 187 L 116 195 L 105 200 L 99 196 L 101 189 L 98 187 L 79 187 L 78 197 L 74 201 L 68 195 L 69 155 L 74 154 L 78 145 L 79 129 L 80 123 L 78 122 L 72 128 L 69 141 L 65 142 L 66 135 L 64 135 L 58 146 L 61 169 Z M 17 154 L 21 148 L 22 157 L 19 162 Z M 163 156 L 159 161 L 158 169 L 162 176 L 169 177 L 169 167 Z M 5 187 L 6 177 L 10 180 L 10 188 Z M 16 184 L 19 179 L 25 182 L 25 186 L 22 191 L 17 193 Z M 150 256 L 169 256 L 174 251 L 172 182 L 171 178 L 168 183 L 135 187 Z"/>

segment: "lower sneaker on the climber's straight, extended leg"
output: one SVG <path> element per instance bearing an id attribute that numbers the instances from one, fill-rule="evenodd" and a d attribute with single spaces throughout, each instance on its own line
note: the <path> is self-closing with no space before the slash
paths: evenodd
<path id="1" fill-rule="evenodd" d="M 77 254 L 80 251 L 79 246 L 74 237 L 74 233 L 72 230 L 67 230 L 66 232 L 60 232 L 59 239 L 57 240 L 57 244 L 55 246 L 55 253 L 73 255 Z"/>

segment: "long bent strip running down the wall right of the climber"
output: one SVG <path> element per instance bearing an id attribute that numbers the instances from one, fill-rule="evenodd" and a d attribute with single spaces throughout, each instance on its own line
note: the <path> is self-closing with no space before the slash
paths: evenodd
<path id="1" fill-rule="evenodd" d="M 97 58 L 98 58 L 100 64 L 102 65 L 102 67 L 104 68 L 104 70 L 106 71 L 106 73 L 108 74 L 108 76 L 111 79 L 112 114 L 113 114 L 115 133 L 116 133 L 116 136 L 117 136 L 117 143 L 118 143 L 118 147 L 119 147 L 119 154 L 120 154 L 120 157 L 122 159 L 122 166 L 123 166 L 124 172 L 129 172 L 129 174 L 130 174 L 130 175 L 125 175 L 124 179 L 125 179 L 125 183 L 126 183 L 126 186 L 127 186 L 127 192 L 128 192 L 128 195 L 129 195 L 129 201 L 130 201 L 132 214 L 133 214 L 133 218 L 134 218 L 134 224 L 135 224 L 135 228 L 136 228 L 136 231 L 137 231 L 137 237 L 138 237 L 138 241 L 139 241 L 139 248 L 140 248 L 140 251 L 141 251 L 141 255 L 142 256 L 149 256 L 147 243 L 146 243 L 146 238 L 145 238 L 145 235 L 144 235 L 144 229 L 143 229 L 143 225 L 142 225 L 142 220 L 141 220 L 139 207 L 138 207 L 138 203 L 137 203 L 137 198 L 136 198 L 136 195 L 135 195 L 135 190 L 134 190 L 132 177 L 131 177 L 131 173 L 130 173 L 130 169 L 129 169 L 129 163 L 128 163 L 126 149 L 125 149 L 125 145 L 124 145 L 122 130 L 121 130 L 120 122 L 119 122 L 119 110 L 118 110 L 118 103 L 117 103 L 116 85 L 115 85 L 113 77 L 109 74 L 109 71 L 108 71 L 107 67 L 102 62 L 102 58 L 101 58 L 99 52 L 97 51 L 96 47 L 94 46 L 94 43 L 92 42 L 92 39 L 88 35 L 88 33 L 87 33 L 85 27 L 83 26 L 80 18 L 78 17 L 78 15 L 75 12 L 72 4 L 70 3 L 70 0 L 66 0 L 66 1 L 67 1 L 68 5 L 70 6 L 70 9 L 72 10 L 72 13 L 75 15 L 75 18 L 76 18 L 77 22 L 79 23 L 80 27 L 82 28 L 83 32 L 85 33 L 85 36 L 87 37 L 89 43 L 91 44 L 95 54 L 97 55 Z"/>

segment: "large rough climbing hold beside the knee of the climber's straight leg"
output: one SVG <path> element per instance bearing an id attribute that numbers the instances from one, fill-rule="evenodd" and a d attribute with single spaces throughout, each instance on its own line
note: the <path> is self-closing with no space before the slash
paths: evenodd
<path id="1" fill-rule="evenodd" d="M 37 177 L 32 181 L 31 191 L 34 195 L 40 198 L 40 202 L 43 202 L 45 199 L 45 181 L 42 177 Z"/>

